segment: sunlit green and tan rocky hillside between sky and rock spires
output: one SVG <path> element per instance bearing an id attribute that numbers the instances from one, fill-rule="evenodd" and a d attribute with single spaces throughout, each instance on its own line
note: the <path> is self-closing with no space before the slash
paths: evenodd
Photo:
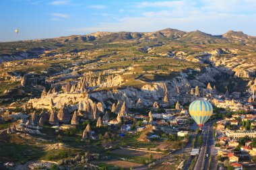
<path id="1" fill-rule="evenodd" d="M 3 42 L 0 43 L 0 100 L 15 100 L 25 94 L 36 97 L 44 88 L 61 91 L 67 82 L 81 84 L 83 77 L 90 77 L 84 88 L 94 91 L 91 95 L 95 99 L 104 96 L 104 91 L 118 89 L 115 99 L 140 98 L 145 105 L 162 102 L 161 96 L 165 94 L 171 97 L 177 87 L 185 92 L 187 87 L 206 87 L 211 82 L 224 91 L 228 84 L 221 85 L 220 77 L 230 79 L 228 82 L 241 79 L 239 82 L 245 81 L 246 87 L 256 77 L 253 40 L 254 37 L 242 32 L 212 36 L 200 31 L 165 29 Z M 232 84 L 233 90 L 239 90 L 238 84 Z M 103 98 L 115 95 L 111 93 Z M 139 98 L 133 99 L 134 94 Z M 47 99 L 45 102 L 51 97 Z"/>

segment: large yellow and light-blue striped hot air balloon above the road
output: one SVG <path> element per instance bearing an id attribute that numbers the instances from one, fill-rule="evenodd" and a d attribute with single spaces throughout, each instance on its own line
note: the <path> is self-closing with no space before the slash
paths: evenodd
<path id="1" fill-rule="evenodd" d="M 201 128 L 212 116 L 212 104 L 205 100 L 195 100 L 189 105 L 189 114 Z"/>

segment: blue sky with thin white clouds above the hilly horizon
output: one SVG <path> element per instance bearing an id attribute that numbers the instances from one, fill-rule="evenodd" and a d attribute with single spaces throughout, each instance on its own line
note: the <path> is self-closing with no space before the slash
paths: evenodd
<path id="1" fill-rule="evenodd" d="M 256 0 L 1 0 L 0 42 L 164 28 L 256 36 L 255 9 Z"/>

